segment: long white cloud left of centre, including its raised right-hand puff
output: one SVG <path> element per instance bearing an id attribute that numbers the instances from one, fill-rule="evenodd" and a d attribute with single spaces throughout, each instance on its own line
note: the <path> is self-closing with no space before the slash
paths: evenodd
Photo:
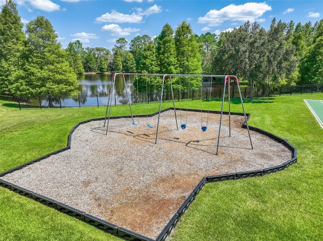
<path id="1" fill-rule="evenodd" d="M 111 13 L 106 13 L 97 17 L 96 23 L 141 23 L 143 16 L 148 17 L 152 14 L 159 14 L 163 9 L 160 6 L 153 5 L 150 8 L 143 10 L 142 8 L 135 8 L 137 13 L 122 14 L 113 10 Z"/>

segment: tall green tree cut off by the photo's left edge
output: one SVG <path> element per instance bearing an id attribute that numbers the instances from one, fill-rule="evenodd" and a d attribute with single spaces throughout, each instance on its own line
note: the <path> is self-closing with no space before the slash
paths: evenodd
<path id="1" fill-rule="evenodd" d="M 12 94 L 13 74 L 26 38 L 13 0 L 7 0 L 0 13 L 0 93 Z"/>

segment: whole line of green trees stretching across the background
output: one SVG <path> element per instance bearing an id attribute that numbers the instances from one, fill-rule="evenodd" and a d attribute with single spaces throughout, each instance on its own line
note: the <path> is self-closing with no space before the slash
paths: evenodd
<path id="1" fill-rule="evenodd" d="M 25 33 L 22 28 L 16 4 L 7 0 L 0 13 L 0 93 L 76 94 L 82 72 L 234 74 L 263 93 L 270 87 L 323 83 L 323 20 L 295 25 L 274 18 L 268 30 L 245 22 L 220 35 L 196 35 L 183 21 L 175 30 L 166 24 L 154 39 L 143 35 L 128 43 L 120 38 L 112 51 L 84 48 L 79 40 L 62 49 L 42 16 L 30 21 Z M 172 83 L 174 89 L 197 89 L 200 81 L 178 77 Z M 138 92 L 154 91 L 161 82 L 140 76 L 134 86 Z"/>

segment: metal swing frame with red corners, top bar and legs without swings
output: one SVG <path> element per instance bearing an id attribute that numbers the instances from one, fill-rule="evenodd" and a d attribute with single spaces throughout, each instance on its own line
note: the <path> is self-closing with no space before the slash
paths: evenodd
<path id="1" fill-rule="evenodd" d="M 104 125 L 103 125 L 103 127 L 105 127 L 105 123 L 106 123 L 106 120 L 107 120 L 105 135 L 107 135 L 107 131 L 108 131 L 108 128 L 109 128 L 109 121 L 110 121 L 110 117 L 111 117 L 111 106 L 112 106 L 112 101 L 110 99 L 113 97 L 113 95 L 115 93 L 115 82 L 116 82 L 116 76 L 117 75 L 122 75 L 123 82 L 124 82 L 124 85 L 125 86 L 126 86 L 125 75 L 155 76 L 155 77 L 156 76 L 160 76 L 160 77 L 163 77 L 162 78 L 162 84 L 161 84 L 161 92 L 160 92 L 160 101 L 159 101 L 159 111 L 158 111 L 158 121 L 157 121 L 157 128 L 156 128 L 155 144 L 157 143 L 157 139 L 158 139 L 158 129 L 159 129 L 159 123 L 160 123 L 161 103 L 163 101 L 164 84 L 165 84 L 166 77 L 169 77 L 169 80 L 170 80 L 172 100 L 173 100 L 173 107 L 174 107 L 174 115 L 175 115 L 175 121 L 176 121 L 176 128 L 177 128 L 177 130 L 178 130 L 178 122 L 177 122 L 177 116 L 176 116 L 174 92 L 173 92 L 173 85 L 172 85 L 172 76 L 173 77 L 176 77 L 176 76 L 178 76 L 178 77 L 182 77 L 182 76 L 183 77 L 184 76 L 187 76 L 187 77 L 210 77 L 211 79 L 213 77 L 223 77 L 224 78 L 224 89 L 223 89 L 223 98 L 222 98 L 222 107 L 221 107 L 221 117 L 220 117 L 220 126 L 219 126 L 219 135 L 218 135 L 217 153 L 216 154 L 218 154 L 218 152 L 219 152 L 220 135 L 221 135 L 221 127 L 222 127 L 222 116 L 223 116 L 223 107 L 224 107 L 224 102 L 225 102 L 225 94 L 226 94 L 226 86 L 227 85 L 228 85 L 228 100 L 229 100 L 229 136 L 231 137 L 230 82 L 231 82 L 231 78 L 234 78 L 235 79 L 235 82 L 237 84 L 238 90 L 239 90 L 240 101 L 241 101 L 241 105 L 242 105 L 243 115 L 245 117 L 245 123 L 246 123 L 247 130 L 248 130 L 248 135 L 249 135 L 251 149 L 253 149 L 252 141 L 251 141 L 251 136 L 250 136 L 249 125 L 248 125 L 248 120 L 247 120 L 246 112 L 245 112 L 244 105 L 243 105 L 242 95 L 241 95 L 241 91 L 240 91 L 239 81 L 238 81 L 237 76 L 235 76 L 235 75 L 223 75 L 223 74 L 219 75 L 219 74 L 113 73 L 113 75 L 112 75 L 112 86 L 111 86 L 109 100 L 108 100 L 107 106 L 106 106 L 106 112 L 105 112 L 105 118 L 104 118 Z M 127 89 L 126 89 L 126 94 L 127 94 L 127 97 L 128 97 L 128 104 L 129 104 L 129 109 L 130 109 L 132 123 L 134 123 L 133 113 L 132 113 L 132 109 L 131 109 L 131 103 L 130 103 L 129 94 L 128 94 L 128 90 Z M 109 110 L 109 115 L 108 115 L 108 110 Z"/>

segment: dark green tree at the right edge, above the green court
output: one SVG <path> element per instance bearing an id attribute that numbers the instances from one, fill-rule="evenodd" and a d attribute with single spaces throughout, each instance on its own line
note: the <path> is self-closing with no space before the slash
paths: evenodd
<path id="1" fill-rule="evenodd" d="M 316 38 L 299 66 L 299 85 L 323 83 L 323 36 Z"/>

